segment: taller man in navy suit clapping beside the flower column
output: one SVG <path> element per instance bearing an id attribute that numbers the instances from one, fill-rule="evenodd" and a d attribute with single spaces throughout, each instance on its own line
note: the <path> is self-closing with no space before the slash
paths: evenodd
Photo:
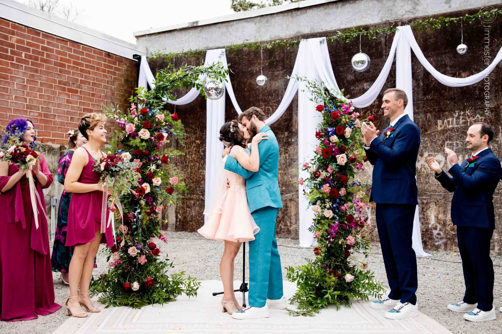
<path id="1" fill-rule="evenodd" d="M 390 309 L 385 317 L 418 315 L 417 259 L 412 248 L 413 220 L 418 204 L 416 163 L 420 130 L 404 113 L 408 97 L 398 88 L 384 92 L 382 109 L 391 124 L 379 136 L 372 122 L 363 124 L 366 156 L 373 167 L 369 201 L 376 203 L 376 227 L 391 292 L 372 308 Z"/>

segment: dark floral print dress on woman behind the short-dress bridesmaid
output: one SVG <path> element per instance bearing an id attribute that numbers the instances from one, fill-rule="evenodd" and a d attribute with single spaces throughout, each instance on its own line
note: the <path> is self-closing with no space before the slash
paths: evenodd
<path id="1" fill-rule="evenodd" d="M 66 151 L 59 158 L 58 165 L 58 182 L 64 185 L 66 172 L 70 167 L 71 158 L 75 151 Z M 56 235 L 54 236 L 54 246 L 52 247 L 52 271 L 68 272 L 71 256 L 73 255 L 74 246 L 66 247 L 66 229 L 68 227 L 68 208 L 70 207 L 71 193 L 66 193 L 63 190 L 61 199 L 59 200 L 58 208 L 58 224 L 56 227 Z M 96 268 L 96 259 L 94 259 L 94 268 Z"/>

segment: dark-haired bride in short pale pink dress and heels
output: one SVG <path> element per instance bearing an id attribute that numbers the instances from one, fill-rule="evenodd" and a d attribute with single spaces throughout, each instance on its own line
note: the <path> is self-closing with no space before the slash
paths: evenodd
<path id="1" fill-rule="evenodd" d="M 249 132 L 237 120 L 223 124 L 220 129 L 219 140 L 225 145 L 226 151 L 230 149 L 229 155 L 236 158 L 246 170 L 258 172 L 260 166 L 258 143 L 263 139 L 268 139 L 267 134 L 258 133 L 253 137 L 252 153 L 245 149 L 245 144 L 249 139 Z M 223 165 L 225 158 L 226 156 L 223 158 Z M 224 170 L 222 166 L 216 180 L 216 187 L 218 189 L 210 199 L 213 203 L 204 212 L 208 216 L 207 221 L 197 232 L 208 239 L 225 243 L 220 262 L 220 275 L 223 282 L 221 306 L 223 312 L 228 311 L 228 314 L 232 314 L 242 309 L 233 292 L 233 262 L 241 243 L 255 240 L 255 234 L 260 231 L 260 228 L 249 211 L 244 178 Z"/>

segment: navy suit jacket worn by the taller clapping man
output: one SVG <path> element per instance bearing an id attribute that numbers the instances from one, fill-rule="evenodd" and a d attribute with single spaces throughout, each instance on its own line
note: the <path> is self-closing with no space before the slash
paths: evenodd
<path id="1" fill-rule="evenodd" d="M 373 167 L 369 201 L 380 204 L 418 204 L 416 163 L 420 147 L 420 130 L 408 115 L 389 127 L 370 143 L 366 156 Z"/>

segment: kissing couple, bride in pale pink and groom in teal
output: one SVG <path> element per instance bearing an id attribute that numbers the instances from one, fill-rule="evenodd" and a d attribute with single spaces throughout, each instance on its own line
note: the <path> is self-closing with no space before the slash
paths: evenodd
<path id="1" fill-rule="evenodd" d="M 225 145 L 223 166 L 209 199 L 213 203 L 204 212 L 208 219 L 198 232 L 225 243 L 220 262 L 222 311 L 234 319 L 266 318 L 269 308 L 287 306 L 276 240 L 277 213 L 283 207 L 277 180 L 279 145 L 257 107 L 243 111 L 238 121 L 223 124 L 219 140 Z M 246 241 L 249 306 L 243 308 L 233 291 L 233 263 Z"/>

